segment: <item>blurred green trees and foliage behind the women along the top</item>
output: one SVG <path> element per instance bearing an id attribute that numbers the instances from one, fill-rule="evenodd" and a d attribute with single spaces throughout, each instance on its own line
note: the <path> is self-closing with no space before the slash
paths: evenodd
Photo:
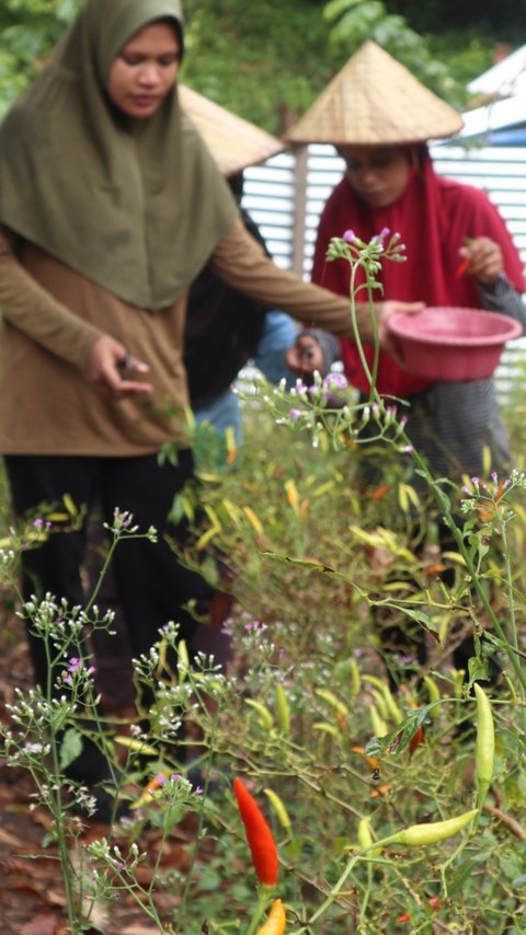
<path id="1" fill-rule="evenodd" d="M 2 0 L 0 114 L 31 83 L 82 0 Z M 183 0 L 188 56 L 182 80 L 279 132 L 367 38 L 454 106 L 524 36 L 516 0 Z M 469 10 L 469 16 L 467 13 Z M 501 15 L 502 13 L 502 15 Z M 499 22 L 496 22 L 499 21 Z M 387 91 L 386 91 L 387 93 Z"/>

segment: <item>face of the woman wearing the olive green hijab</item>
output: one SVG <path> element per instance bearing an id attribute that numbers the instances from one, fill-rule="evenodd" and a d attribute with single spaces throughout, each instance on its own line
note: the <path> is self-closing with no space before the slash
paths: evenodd
<path id="1" fill-rule="evenodd" d="M 151 117 L 178 77 L 181 49 L 169 23 L 139 30 L 118 53 L 107 78 L 107 94 L 129 117 Z"/>

